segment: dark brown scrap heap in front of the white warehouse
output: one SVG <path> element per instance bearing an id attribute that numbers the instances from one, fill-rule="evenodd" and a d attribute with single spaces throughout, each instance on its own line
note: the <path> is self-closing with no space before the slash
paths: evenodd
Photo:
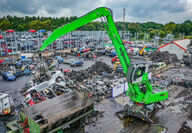
<path id="1" fill-rule="evenodd" d="M 175 54 L 170 54 L 168 51 L 155 51 L 149 55 L 151 61 L 161 61 L 166 64 L 175 63 L 178 61 L 178 58 Z"/>

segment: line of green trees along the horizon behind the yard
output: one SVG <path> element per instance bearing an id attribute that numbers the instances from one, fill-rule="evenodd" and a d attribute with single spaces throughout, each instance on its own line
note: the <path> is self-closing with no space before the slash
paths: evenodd
<path id="1" fill-rule="evenodd" d="M 17 17 L 17 16 L 4 16 L 0 18 L 0 30 L 5 31 L 7 29 L 13 29 L 16 31 L 28 31 L 30 29 L 40 30 L 44 29 L 46 31 L 53 31 L 54 29 L 70 23 L 76 20 L 76 16 L 71 17 Z M 166 24 L 160 24 L 155 22 L 115 22 L 117 30 L 130 31 L 131 34 L 134 33 L 149 33 L 150 37 L 154 37 L 159 34 L 160 37 L 165 37 L 167 33 L 173 34 L 178 37 L 179 34 L 184 34 L 188 38 L 192 38 L 192 21 L 186 20 L 183 23 L 176 24 L 174 22 L 169 22 Z M 99 31 L 105 30 L 102 22 L 90 22 L 77 30 L 82 31 Z"/>

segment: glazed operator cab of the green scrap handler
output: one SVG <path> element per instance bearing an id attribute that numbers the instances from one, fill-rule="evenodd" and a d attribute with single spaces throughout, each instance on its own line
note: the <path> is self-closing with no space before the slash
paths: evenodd
<path id="1" fill-rule="evenodd" d="M 142 81 L 143 74 L 148 72 L 148 63 L 131 64 L 127 72 L 127 81 L 130 83 L 139 83 Z"/>

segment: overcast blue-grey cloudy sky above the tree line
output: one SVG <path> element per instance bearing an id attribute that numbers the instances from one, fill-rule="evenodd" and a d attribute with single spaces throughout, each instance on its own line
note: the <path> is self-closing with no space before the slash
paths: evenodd
<path id="1" fill-rule="evenodd" d="M 115 21 L 182 23 L 192 20 L 192 0 L 0 0 L 0 17 L 12 16 L 82 16 L 97 7 L 109 7 Z"/>

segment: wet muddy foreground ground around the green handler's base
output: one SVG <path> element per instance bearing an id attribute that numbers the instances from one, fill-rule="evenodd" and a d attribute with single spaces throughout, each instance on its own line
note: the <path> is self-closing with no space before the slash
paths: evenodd
<path id="1" fill-rule="evenodd" d="M 187 93 L 187 88 L 180 86 L 170 86 L 167 89 L 169 99 L 162 102 L 164 107 L 159 106 L 153 112 L 151 117 L 153 124 L 131 117 L 119 120 L 114 113 L 122 106 L 114 100 L 105 99 L 95 105 L 95 109 L 104 112 L 103 116 L 93 124 L 85 126 L 85 131 L 93 133 L 191 133 L 192 101 L 188 99 L 191 97 L 190 93 Z"/>

